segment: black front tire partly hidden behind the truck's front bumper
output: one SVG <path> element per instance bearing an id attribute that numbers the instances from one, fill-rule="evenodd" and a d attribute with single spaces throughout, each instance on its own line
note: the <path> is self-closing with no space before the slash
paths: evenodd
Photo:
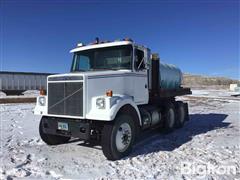
<path id="1" fill-rule="evenodd" d="M 48 145 L 58 145 L 58 144 L 64 144 L 67 143 L 70 140 L 70 137 L 65 136 L 58 136 L 58 135 L 52 135 L 52 134 L 46 134 L 43 132 L 43 119 L 46 117 L 43 117 L 39 124 L 39 134 L 41 139 Z"/>

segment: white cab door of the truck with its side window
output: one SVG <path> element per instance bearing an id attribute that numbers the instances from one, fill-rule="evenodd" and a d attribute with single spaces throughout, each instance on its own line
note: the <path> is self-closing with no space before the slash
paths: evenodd
<path id="1" fill-rule="evenodd" d="M 134 102 L 147 104 L 149 99 L 147 77 L 147 55 L 143 48 L 136 47 L 134 50 Z"/>

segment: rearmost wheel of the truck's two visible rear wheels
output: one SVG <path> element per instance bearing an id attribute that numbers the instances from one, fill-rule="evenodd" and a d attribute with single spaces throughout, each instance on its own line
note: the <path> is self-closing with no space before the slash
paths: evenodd
<path id="1" fill-rule="evenodd" d="M 176 128 L 183 127 L 186 120 L 186 110 L 182 101 L 175 103 L 176 108 Z"/>

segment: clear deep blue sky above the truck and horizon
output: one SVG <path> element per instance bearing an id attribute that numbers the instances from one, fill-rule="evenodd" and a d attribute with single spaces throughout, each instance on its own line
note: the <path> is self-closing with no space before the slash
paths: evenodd
<path id="1" fill-rule="evenodd" d="M 131 37 L 184 72 L 239 79 L 239 1 L 1 0 L 1 70 L 68 72 L 69 50 Z"/>

